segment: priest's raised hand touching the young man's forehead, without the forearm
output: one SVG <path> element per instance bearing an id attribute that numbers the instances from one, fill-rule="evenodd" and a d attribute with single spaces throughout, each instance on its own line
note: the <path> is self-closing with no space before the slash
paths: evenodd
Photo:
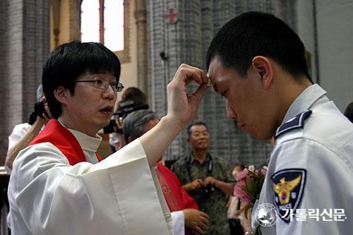
<path id="1" fill-rule="evenodd" d="M 193 94 L 188 94 L 186 86 L 192 80 L 198 83 L 198 88 Z M 196 116 L 200 102 L 208 88 L 208 76 L 203 70 L 181 64 L 173 80 L 167 86 L 167 116 L 184 127 Z"/>

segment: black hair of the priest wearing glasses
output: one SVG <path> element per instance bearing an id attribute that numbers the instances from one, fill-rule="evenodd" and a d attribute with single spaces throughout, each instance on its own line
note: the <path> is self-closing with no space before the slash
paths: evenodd
<path id="1" fill-rule="evenodd" d="M 61 44 L 44 61 L 42 84 L 50 112 L 54 119 L 61 115 L 61 103 L 56 100 L 54 90 L 59 86 L 67 88 L 74 95 L 77 80 L 85 72 L 92 74 L 112 73 L 119 81 L 120 61 L 114 52 L 97 42 L 73 41 Z"/>

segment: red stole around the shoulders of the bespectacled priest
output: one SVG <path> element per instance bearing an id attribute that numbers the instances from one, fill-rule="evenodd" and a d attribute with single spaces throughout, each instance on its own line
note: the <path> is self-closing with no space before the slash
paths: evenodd
<path id="1" fill-rule="evenodd" d="M 52 143 L 52 145 L 57 147 L 72 166 L 78 162 L 87 162 L 78 140 L 56 119 L 50 119 L 44 129 L 28 146 L 46 142 Z M 102 161 L 100 156 L 97 155 L 97 158 L 98 161 Z"/>

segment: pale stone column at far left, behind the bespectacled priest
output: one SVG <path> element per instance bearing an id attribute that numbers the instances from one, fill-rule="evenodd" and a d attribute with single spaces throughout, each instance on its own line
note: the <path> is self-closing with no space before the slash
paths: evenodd
<path id="1" fill-rule="evenodd" d="M 1 1 L 0 164 L 13 126 L 27 122 L 49 54 L 49 6 L 46 0 Z"/>

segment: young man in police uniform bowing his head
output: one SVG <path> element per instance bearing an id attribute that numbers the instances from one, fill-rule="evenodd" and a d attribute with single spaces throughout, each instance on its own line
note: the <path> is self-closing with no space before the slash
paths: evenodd
<path id="1" fill-rule="evenodd" d="M 262 234 L 352 234 L 353 124 L 311 82 L 298 35 L 268 13 L 244 13 L 217 32 L 206 59 L 229 119 L 276 138 L 258 202 L 275 210 L 252 219 Z"/>

